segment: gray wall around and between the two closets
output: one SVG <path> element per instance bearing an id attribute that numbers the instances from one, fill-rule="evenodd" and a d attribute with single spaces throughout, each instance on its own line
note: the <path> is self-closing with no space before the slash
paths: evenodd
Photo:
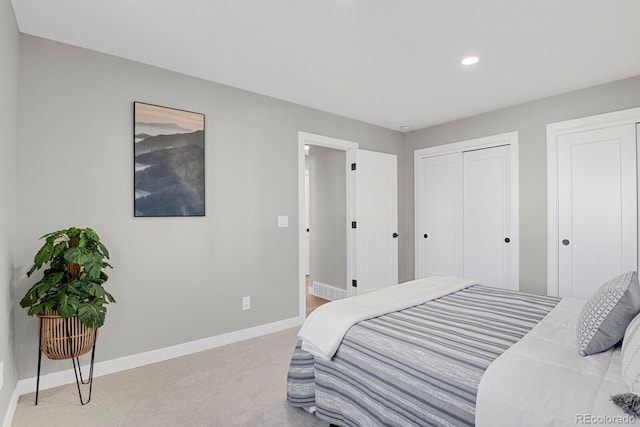
<path id="1" fill-rule="evenodd" d="M 405 187 L 413 194 L 413 155 L 420 148 L 518 131 L 520 148 L 520 290 L 547 289 L 546 125 L 640 106 L 640 76 L 429 127 L 406 135 Z M 405 277 L 414 277 L 414 204 L 407 199 Z"/>

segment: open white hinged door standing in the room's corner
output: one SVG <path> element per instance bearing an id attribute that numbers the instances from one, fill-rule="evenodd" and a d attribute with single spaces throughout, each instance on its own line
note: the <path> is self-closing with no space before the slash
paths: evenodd
<path id="1" fill-rule="evenodd" d="M 398 283 L 398 195 L 395 155 L 355 150 L 352 235 L 357 294 Z"/>

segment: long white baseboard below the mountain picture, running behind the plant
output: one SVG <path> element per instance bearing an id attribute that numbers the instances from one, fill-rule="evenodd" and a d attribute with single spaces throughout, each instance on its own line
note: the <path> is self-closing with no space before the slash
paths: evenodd
<path id="1" fill-rule="evenodd" d="M 214 337 L 204 338 L 197 341 L 191 341 L 184 344 L 178 344 L 171 347 L 165 347 L 158 350 L 152 350 L 145 353 L 134 354 L 131 356 L 121 357 L 118 359 L 99 362 L 94 365 L 94 377 L 113 374 L 115 372 L 126 371 L 127 369 L 138 368 L 140 366 L 150 365 L 152 363 L 163 362 L 165 360 L 174 359 L 176 357 L 186 356 L 200 351 L 210 350 L 227 344 L 233 344 L 262 335 L 283 331 L 285 329 L 295 328 L 302 325 L 304 317 L 292 317 L 290 319 L 280 320 L 265 325 L 254 326 L 252 328 L 242 329 L 240 331 L 229 332 Z M 87 369 L 83 366 L 82 369 Z M 75 381 L 73 369 L 54 372 L 51 374 L 40 376 L 40 390 L 46 390 L 61 385 L 71 384 Z M 36 391 L 36 377 L 27 378 L 18 381 L 16 386 L 17 395 L 33 393 Z"/>

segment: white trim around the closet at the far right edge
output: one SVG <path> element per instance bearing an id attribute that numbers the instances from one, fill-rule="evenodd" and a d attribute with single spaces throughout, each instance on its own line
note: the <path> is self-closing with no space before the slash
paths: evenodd
<path id="1" fill-rule="evenodd" d="M 559 292 L 558 137 L 569 133 L 638 122 L 640 122 L 640 107 L 547 124 L 547 295 L 558 296 Z M 640 186 L 638 188 L 640 189 Z"/>

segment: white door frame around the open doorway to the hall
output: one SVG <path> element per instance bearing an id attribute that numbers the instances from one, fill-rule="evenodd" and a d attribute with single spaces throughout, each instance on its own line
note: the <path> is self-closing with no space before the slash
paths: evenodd
<path id="1" fill-rule="evenodd" d="M 344 139 L 332 138 L 329 136 L 316 135 L 309 132 L 298 131 L 298 278 L 299 278 L 299 313 L 298 316 L 301 319 L 305 319 L 307 313 L 307 299 L 306 299 L 306 289 L 305 289 L 305 265 L 306 265 L 306 254 L 305 254 L 305 225 L 304 225 L 304 146 L 305 145 L 314 145 L 318 147 L 325 148 L 333 148 L 336 150 L 341 150 L 346 152 L 347 162 L 345 162 L 345 175 L 347 176 L 347 218 L 350 218 L 350 209 L 351 203 L 350 200 L 352 197 L 352 189 L 350 185 L 349 179 L 349 171 L 347 170 L 347 164 L 349 164 L 348 160 L 352 157 L 351 152 L 353 150 L 357 150 L 359 148 L 359 144 L 357 142 L 347 141 Z M 348 221 L 347 221 L 348 222 Z M 353 248 L 353 238 L 351 233 L 349 233 L 349 228 L 345 224 L 345 233 L 347 235 L 347 277 L 345 278 L 345 283 L 349 283 L 351 272 L 352 272 L 352 248 Z M 347 286 L 349 288 L 349 286 Z M 350 291 L 350 289 L 347 289 Z"/>

